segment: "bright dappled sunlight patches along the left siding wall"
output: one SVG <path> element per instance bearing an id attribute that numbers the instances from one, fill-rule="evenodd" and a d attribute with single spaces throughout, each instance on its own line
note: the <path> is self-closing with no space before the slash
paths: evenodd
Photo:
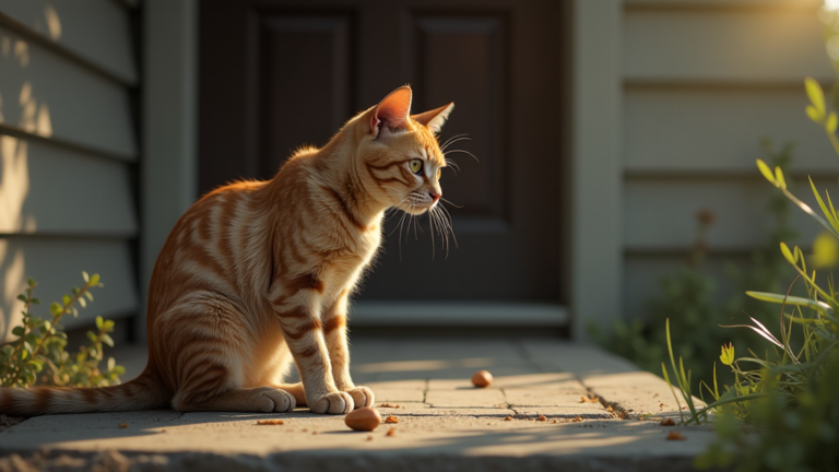
<path id="1" fill-rule="evenodd" d="M 49 36 L 61 36 L 61 21 L 51 5 L 44 9 L 44 22 Z M 0 123 L 45 138 L 52 135 L 49 107 L 38 98 L 27 80 L 31 67 L 29 45 L 8 33 L 0 36 Z M 12 95 L 16 92 L 16 96 Z M 1 131 L 0 131 L 1 132 Z M 25 257 L 14 247 L 12 235 L 34 233 L 35 215 L 24 210 L 29 194 L 28 143 L 26 140 L 0 134 L 0 342 L 8 339 L 11 327 L 20 319 L 16 297 L 25 287 Z M 10 237 L 11 236 L 11 237 Z"/>

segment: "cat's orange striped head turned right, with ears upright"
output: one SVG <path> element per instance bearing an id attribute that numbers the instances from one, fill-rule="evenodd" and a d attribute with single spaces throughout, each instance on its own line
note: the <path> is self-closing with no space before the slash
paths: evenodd
<path id="1" fill-rule="evenodd" d="M 436 135 L 454 104 L 411 115 L 411 87 L 399 87 L 359 117 L 358 156 L 362 178 L 373 198 L 422 214 L 442 197 L 440 176 L 446 158 Z"/>

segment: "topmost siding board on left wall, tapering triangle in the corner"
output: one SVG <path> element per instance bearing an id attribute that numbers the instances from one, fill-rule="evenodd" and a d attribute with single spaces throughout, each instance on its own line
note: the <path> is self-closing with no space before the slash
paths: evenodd
<path id="1" fill-rule="evenodd" d="M 138 83 L 129 11 L 113 0 L 0 0 L 0 12 L 129 85 Z"/>

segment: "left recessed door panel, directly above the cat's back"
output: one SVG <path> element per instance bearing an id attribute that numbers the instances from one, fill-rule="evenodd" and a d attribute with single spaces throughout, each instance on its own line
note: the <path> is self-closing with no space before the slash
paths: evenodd
<path id="1" fill-rule="evenodd" d="M 265 14 L 260 30 L 259 161 L 260 177 L 269 178 L 294 150 L 321 145 L 353 114 L 352 16 Z"/>

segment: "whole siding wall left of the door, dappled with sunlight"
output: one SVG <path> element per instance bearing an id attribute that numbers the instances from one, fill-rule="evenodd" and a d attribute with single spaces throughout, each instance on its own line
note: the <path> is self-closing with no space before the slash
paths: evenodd
<path id="1" fill-rule="evenodd" d="M 0 0 L 2 339 L 20 319 L 27 276 L 49 304 L 81 283 L 82 270 L 102 275 L 105 288 L 63 320 L 68 328 L 138 310 L 132 8 Z"/>

